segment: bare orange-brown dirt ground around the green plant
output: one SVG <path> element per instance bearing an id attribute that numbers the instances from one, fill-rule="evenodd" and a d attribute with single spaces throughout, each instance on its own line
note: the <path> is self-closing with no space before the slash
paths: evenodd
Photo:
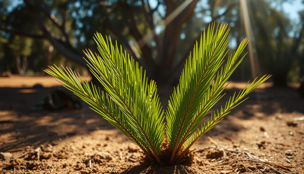
<path id="1" fill-rule="evenodd" d="M 44 88 L 32 88 L 36 83 Z M 231 83 L 215 108 L 244 85 Z M 31 111 L 60 86 L 55 78 L 0 77 L 0 152 L 12 154 L 0 159 L 0 173 L 302 174 L 304 99 L 297 85 L 264 83 L 196 142 L 193 164 L 160 167 L 145 163 L 139 148 L 85 103 L 80 110 Z M 158 91 L 166 108 L 172 88 Z"/>

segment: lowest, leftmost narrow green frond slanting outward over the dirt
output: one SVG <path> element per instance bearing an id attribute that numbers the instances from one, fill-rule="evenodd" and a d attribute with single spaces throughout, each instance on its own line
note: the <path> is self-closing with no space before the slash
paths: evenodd
<path id="1" fill-rule="evenodd" d="M 83 81 L 80 76 L 73 73 L 71 69 L 63 68 L 62 70 L 57 66 L 50 66 L 49 68 L 50 69 L 46 69 L 45 72 L 61 80 L 64 87 L 71 90 L 83 101 L 88 103 L 93 110 L 98 112 L 113 126 L 119 129 L 133 143 L 139 144 L 134 138 L 136 137 L 136 134 L 134 135 L 135 131 L 130 128 L 126 120 L 120 114 L 119 108 L 109 99 L 108 95 L 97 89 L 92 85 L 92 83 L 90 85 L 87 80 Z"/>

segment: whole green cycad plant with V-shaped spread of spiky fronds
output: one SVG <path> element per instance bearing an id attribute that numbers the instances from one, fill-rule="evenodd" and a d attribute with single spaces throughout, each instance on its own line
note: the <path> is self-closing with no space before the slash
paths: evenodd
<path id="1" fill-rule="evenodd" d="M 247 44 L 246 39 L 222 66 L 227 53 L 228 32 L 225 24 L 217 25 L 216 29 L 213 24 L 207 32 L 203 32 L 170 98 L 166 124 L 156 83 L 148 81 L 142 67 L 121 46 L 119 48 L 117 43 L 112 45 L 111 40 L 101 34 L 95 35 L 100 55 L 90 50 L 86 50 L 85 54 L 88 66 L 105 92 L 82 80 L 71 69 L 51 66 L 45 71 L 60 79 L 65 87 L 138 145 L 144 159 L 158 164 L 169 161 L 173 165 L 183 162 L 190 153 L 189 148 L 199 137 L 269 77 L 254 80 L 247 88 L 234 94 L 224 107 L 212 113 L 211 119 L 198 128 L 210 108 L 222 98 L 225 82 L 243 60 L 238 58 Z"/>

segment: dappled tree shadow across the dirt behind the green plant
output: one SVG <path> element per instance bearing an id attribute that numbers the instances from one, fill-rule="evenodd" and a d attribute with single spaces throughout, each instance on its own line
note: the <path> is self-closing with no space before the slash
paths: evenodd
<path id="1" fill-rule="evenodd" d="M 56 88 L 0 88 L 0 151 L 28 145 L 36 147 L 74 135 L 85 135 L 94 130 L 116 129 L 84 102 L 80 110 L 65 109 L 57 112 L 30 110 Z M 173 91 L 172 87 L 160 88 L 159 91 L 163 108 L 166 109 L 168 98 Z M 209 113 L 224 105 L 235 91 L 238 92 L 240 89 L 224 90 L 225 96 Z M 246 120 L 254 117 L 262 120 L 274 113 L 304 113 L 304 99 L 299 97 L 295 88 L 265 88 L 257 89 L 255 92 L 257 93 L 252 93 L 249 99 L 234 108 L 206 135 L 226 134 L 229 136 L 245 129 L 233 118 Z M 255 97 L 259 94 L 265 94 L 268 97 Z M 206 116 L 205 122 L 209 117 L 210 115 Z"/>

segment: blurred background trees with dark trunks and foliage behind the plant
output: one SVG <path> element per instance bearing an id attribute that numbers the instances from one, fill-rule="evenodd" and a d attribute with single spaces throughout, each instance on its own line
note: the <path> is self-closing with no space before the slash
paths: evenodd
<path id="1" fill-rule="evenodd" d="M 304 10 L 290 20 L 282 12 L 289 2 L 247 0 L 260 73 L 273 74 L 277 86 L 304 75 Z M 42 72 L 53 63 L 85 72 L 81 50 L 96 51 L 97 31 L 122 44 L 149 78 L 171 83 L 212 21 L 229 24 L 229 47 L 236 48 L 246 37 L 240 9 L 240 0 L 3 0 L 0 74 Z M 251 78 L 249 67 L 246 59 L 232 78 Z"/>

